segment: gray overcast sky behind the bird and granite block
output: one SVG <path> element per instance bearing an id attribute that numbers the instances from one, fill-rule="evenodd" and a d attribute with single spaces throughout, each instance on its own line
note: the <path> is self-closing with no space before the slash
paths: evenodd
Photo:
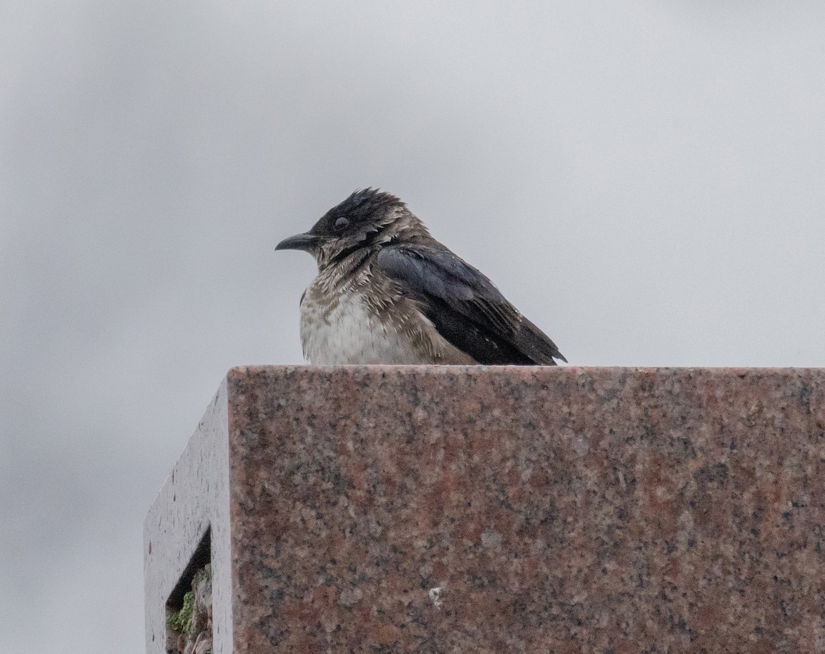
<path id="1" fill-rule="evenodd" d="M 573 364 L 825 366 L 825 3 L 2 2 L 0 652 L 143 652 L 145 511 L 362 186 Z"/>

